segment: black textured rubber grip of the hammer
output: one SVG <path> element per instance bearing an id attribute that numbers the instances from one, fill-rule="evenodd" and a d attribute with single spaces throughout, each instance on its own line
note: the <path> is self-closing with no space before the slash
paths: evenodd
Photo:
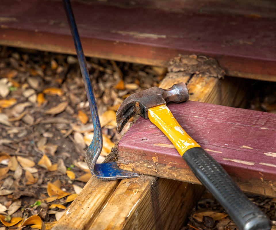
<path id="1" fill-rule="evenodd" d="M 200 147 L 183 154 L 199 181 L 212 193 L 241 230 L 270 230 L 269 218 L 239 189 L 223 167 Z"/>

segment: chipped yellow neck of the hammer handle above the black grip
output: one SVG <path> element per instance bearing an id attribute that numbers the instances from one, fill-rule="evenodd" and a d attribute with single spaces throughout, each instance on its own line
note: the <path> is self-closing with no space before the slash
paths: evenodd
<path id="1" fill-rule="evenodd" d="M 155 124 L 173 143 L 181 156 L 193 147 L 200 147 L 174 118 L 166 105 L 156 106 L 148 110 L 150 121 Z"/>

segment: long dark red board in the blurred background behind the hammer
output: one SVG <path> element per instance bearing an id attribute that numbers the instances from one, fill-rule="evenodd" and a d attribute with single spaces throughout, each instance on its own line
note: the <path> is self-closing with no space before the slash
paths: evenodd
<path id="1" fill-rule="evenodd" d="M 228 1 L 73 1 L 85 53 L 165 65 L 215 57 L 233 76 L 276 81 L 276 5 Z M 2 0 L 0 44 L 75 53 L 62 1 Z M 253 75 L 252 75 L 253 74 Z"/>

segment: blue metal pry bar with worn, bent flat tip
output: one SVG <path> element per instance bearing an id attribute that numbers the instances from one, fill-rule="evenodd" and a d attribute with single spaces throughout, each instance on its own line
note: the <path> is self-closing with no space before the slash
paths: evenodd
<path id="1" fill-rule="evenodd" d="M 89 102 L 89 107 L 93 118 L 94 136 L 85 155 L 85 160 L 90 169 L 90 172 L 93 176 L 106 181 L 139 177 L 139 174 L 137 173 L 120 169 L 116 164 L 116 162 L 96 164 L 97 159 L 101 154 L 101 150 L 103 147 L 103 137 L 101 133 L 101 125 L 99 122 L 97 105 L 93 94 L 93 89 L 89 78 L 89 72 L 85 61 L 85 56 L 83 54 L 83 48 L 81 45 L 81 40 L 78 34 L 78 29 L 76 26 L 70 1 L 63 0 L 63 4 L 66 11 L 67 19 L 70 25 L 70 30 L 71 30 L 74 45 L 76 48 L 78 61 L 81 67 L 81 74 L 83 76 L 87 99 Z"/>

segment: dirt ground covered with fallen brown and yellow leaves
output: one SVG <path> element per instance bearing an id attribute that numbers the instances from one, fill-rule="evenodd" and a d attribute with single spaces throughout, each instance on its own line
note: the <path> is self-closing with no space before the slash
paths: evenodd
<path id="1" fill-rule="evenodd" d="M 96 58 L 87 63 L 103 131 L 102 162 L 132 122 L 116 132 L 118 106 L 129 94 L 157 86 L 166 68 Z M 260 84 L 248 108 L 276 112 L 276 85 Z M 0 230 L 51 229 L 91 177 L 84 157 L 92 138 L 75 56 L 0 47 Z M 248 196 L 276 225 L 276 200 Z M 205 193 L 182 229 L 237 228 Z"/>

